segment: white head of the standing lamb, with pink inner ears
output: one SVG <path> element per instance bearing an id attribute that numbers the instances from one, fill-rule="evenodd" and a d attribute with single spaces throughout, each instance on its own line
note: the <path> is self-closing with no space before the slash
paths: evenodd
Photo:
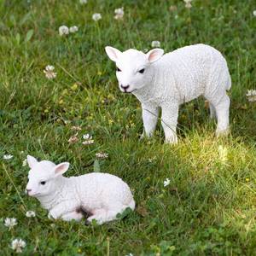
<path id="1" fill-rule="evenodd" d="M 119 80 L 119 88 L 123 92 L 133 92 L 150 84 L 152 74 L 149 67 L 164 54 L 163 49 L 151 49 L 147 54 L 137 49 L 121 52 L 110 46 L 105 50 L 110 60 L 116 64 L 116 76 Z"/>

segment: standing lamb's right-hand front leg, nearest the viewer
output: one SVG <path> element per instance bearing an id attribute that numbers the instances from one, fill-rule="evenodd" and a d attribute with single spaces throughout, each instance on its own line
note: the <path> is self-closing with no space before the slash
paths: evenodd
<path id="1" fill-rule="evenodd" d="M 178 115 L 178 103 L 165 102 L 161 105 L 162 118 L 161 124 L 165 131 L 166 140 L 165 143 L 175 144 L 177 143 L 177 115 Z"/>

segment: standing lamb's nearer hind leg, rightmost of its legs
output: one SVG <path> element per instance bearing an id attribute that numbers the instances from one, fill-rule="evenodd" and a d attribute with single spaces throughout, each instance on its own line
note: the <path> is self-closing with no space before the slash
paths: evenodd
<path id="1" fill-rule="evenodd" d="M 224 94 L 218 105 L 214 106 L 217 113 L 218 125 L 216 135 L 227 135 L 230 131 L 230 97 Z"/>

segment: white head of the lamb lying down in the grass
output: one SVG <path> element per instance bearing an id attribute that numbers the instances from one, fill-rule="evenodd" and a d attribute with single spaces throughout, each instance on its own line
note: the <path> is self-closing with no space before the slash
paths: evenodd
<path id="1" fill-rule="evenodd" d="M 51 161 L 38 161 L 31 155 L 26 157 L 28 166 L 31 170 L 28 172 L 28 183 L 26 191 L 28 195 L 40 197 L 50 195 L 55 192 L 57 179 L 67 172 L 69 163 L 55 165 Z"/>

